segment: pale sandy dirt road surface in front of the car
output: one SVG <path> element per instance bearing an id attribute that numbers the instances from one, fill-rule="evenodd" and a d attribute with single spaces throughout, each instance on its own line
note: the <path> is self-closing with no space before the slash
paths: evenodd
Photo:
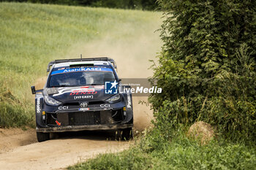
<path id="1" fill-rule="evenodd" d="M 101 134 L 65 138 L 28 144 L 1 153 L 0 169 L 61 169 L 94 158 L 99 153 L 120 152 L 130 145 L 130 142 L 108 141 Z"/>

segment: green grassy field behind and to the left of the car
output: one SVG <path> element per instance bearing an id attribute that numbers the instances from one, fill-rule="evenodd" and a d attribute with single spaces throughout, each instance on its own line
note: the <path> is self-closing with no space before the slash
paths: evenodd
<path id="1" fill-rule="evenodd" d="M 81 44 L 136 39 L 159 26 L 160 14 L 137 10 L 0 3 L 0 126 L 34 124 L 30 86 L 46 67 Z"/>

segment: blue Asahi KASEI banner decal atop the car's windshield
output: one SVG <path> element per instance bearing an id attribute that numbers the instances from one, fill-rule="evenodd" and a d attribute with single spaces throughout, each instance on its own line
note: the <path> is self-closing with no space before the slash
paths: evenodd
<path id="1" fill-rule="evenodd" d="M 61 74 L 61 73 L 68 73 L 68 72 L 91 72 L 91 71 L 98 71 L 98 72 L 113 72 L 110 68 L 98 68 L 98 67 L 84 67 L 84 68 L 73 68 L 73 69 L 61 69 L 56 70 L 51 73 L 54 74 Z"/>

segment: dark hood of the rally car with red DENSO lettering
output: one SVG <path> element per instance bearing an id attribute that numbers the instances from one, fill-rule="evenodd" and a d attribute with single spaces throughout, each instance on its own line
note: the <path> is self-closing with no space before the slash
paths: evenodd
<path id="1" fill-rule="evenodd" d="M 45 88 L 44 94 L 57 101 L 105 101 L 113 95 L 105 94 L 105 85 Z"/>

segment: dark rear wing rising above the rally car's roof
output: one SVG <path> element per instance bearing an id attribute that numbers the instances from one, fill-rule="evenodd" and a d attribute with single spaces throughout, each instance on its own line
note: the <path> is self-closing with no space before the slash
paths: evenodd
<path id="1" fill-rule="evenodd" d="M 67 62 L 74 62 L 74 61 L 109 61 L 113 65 L 114 69 L 117 69 L 116 62 L 112 58 L 108 58 L 108 57 L 102 57 L 102 58 L 74 58 L 74 59 L 62 59 L 62 60 L 50 61 L 50 63 L 48 63 L 47 72 L 50 72 L 50 67 L 53 66 L 53 64 L 67 63 Z"/>

